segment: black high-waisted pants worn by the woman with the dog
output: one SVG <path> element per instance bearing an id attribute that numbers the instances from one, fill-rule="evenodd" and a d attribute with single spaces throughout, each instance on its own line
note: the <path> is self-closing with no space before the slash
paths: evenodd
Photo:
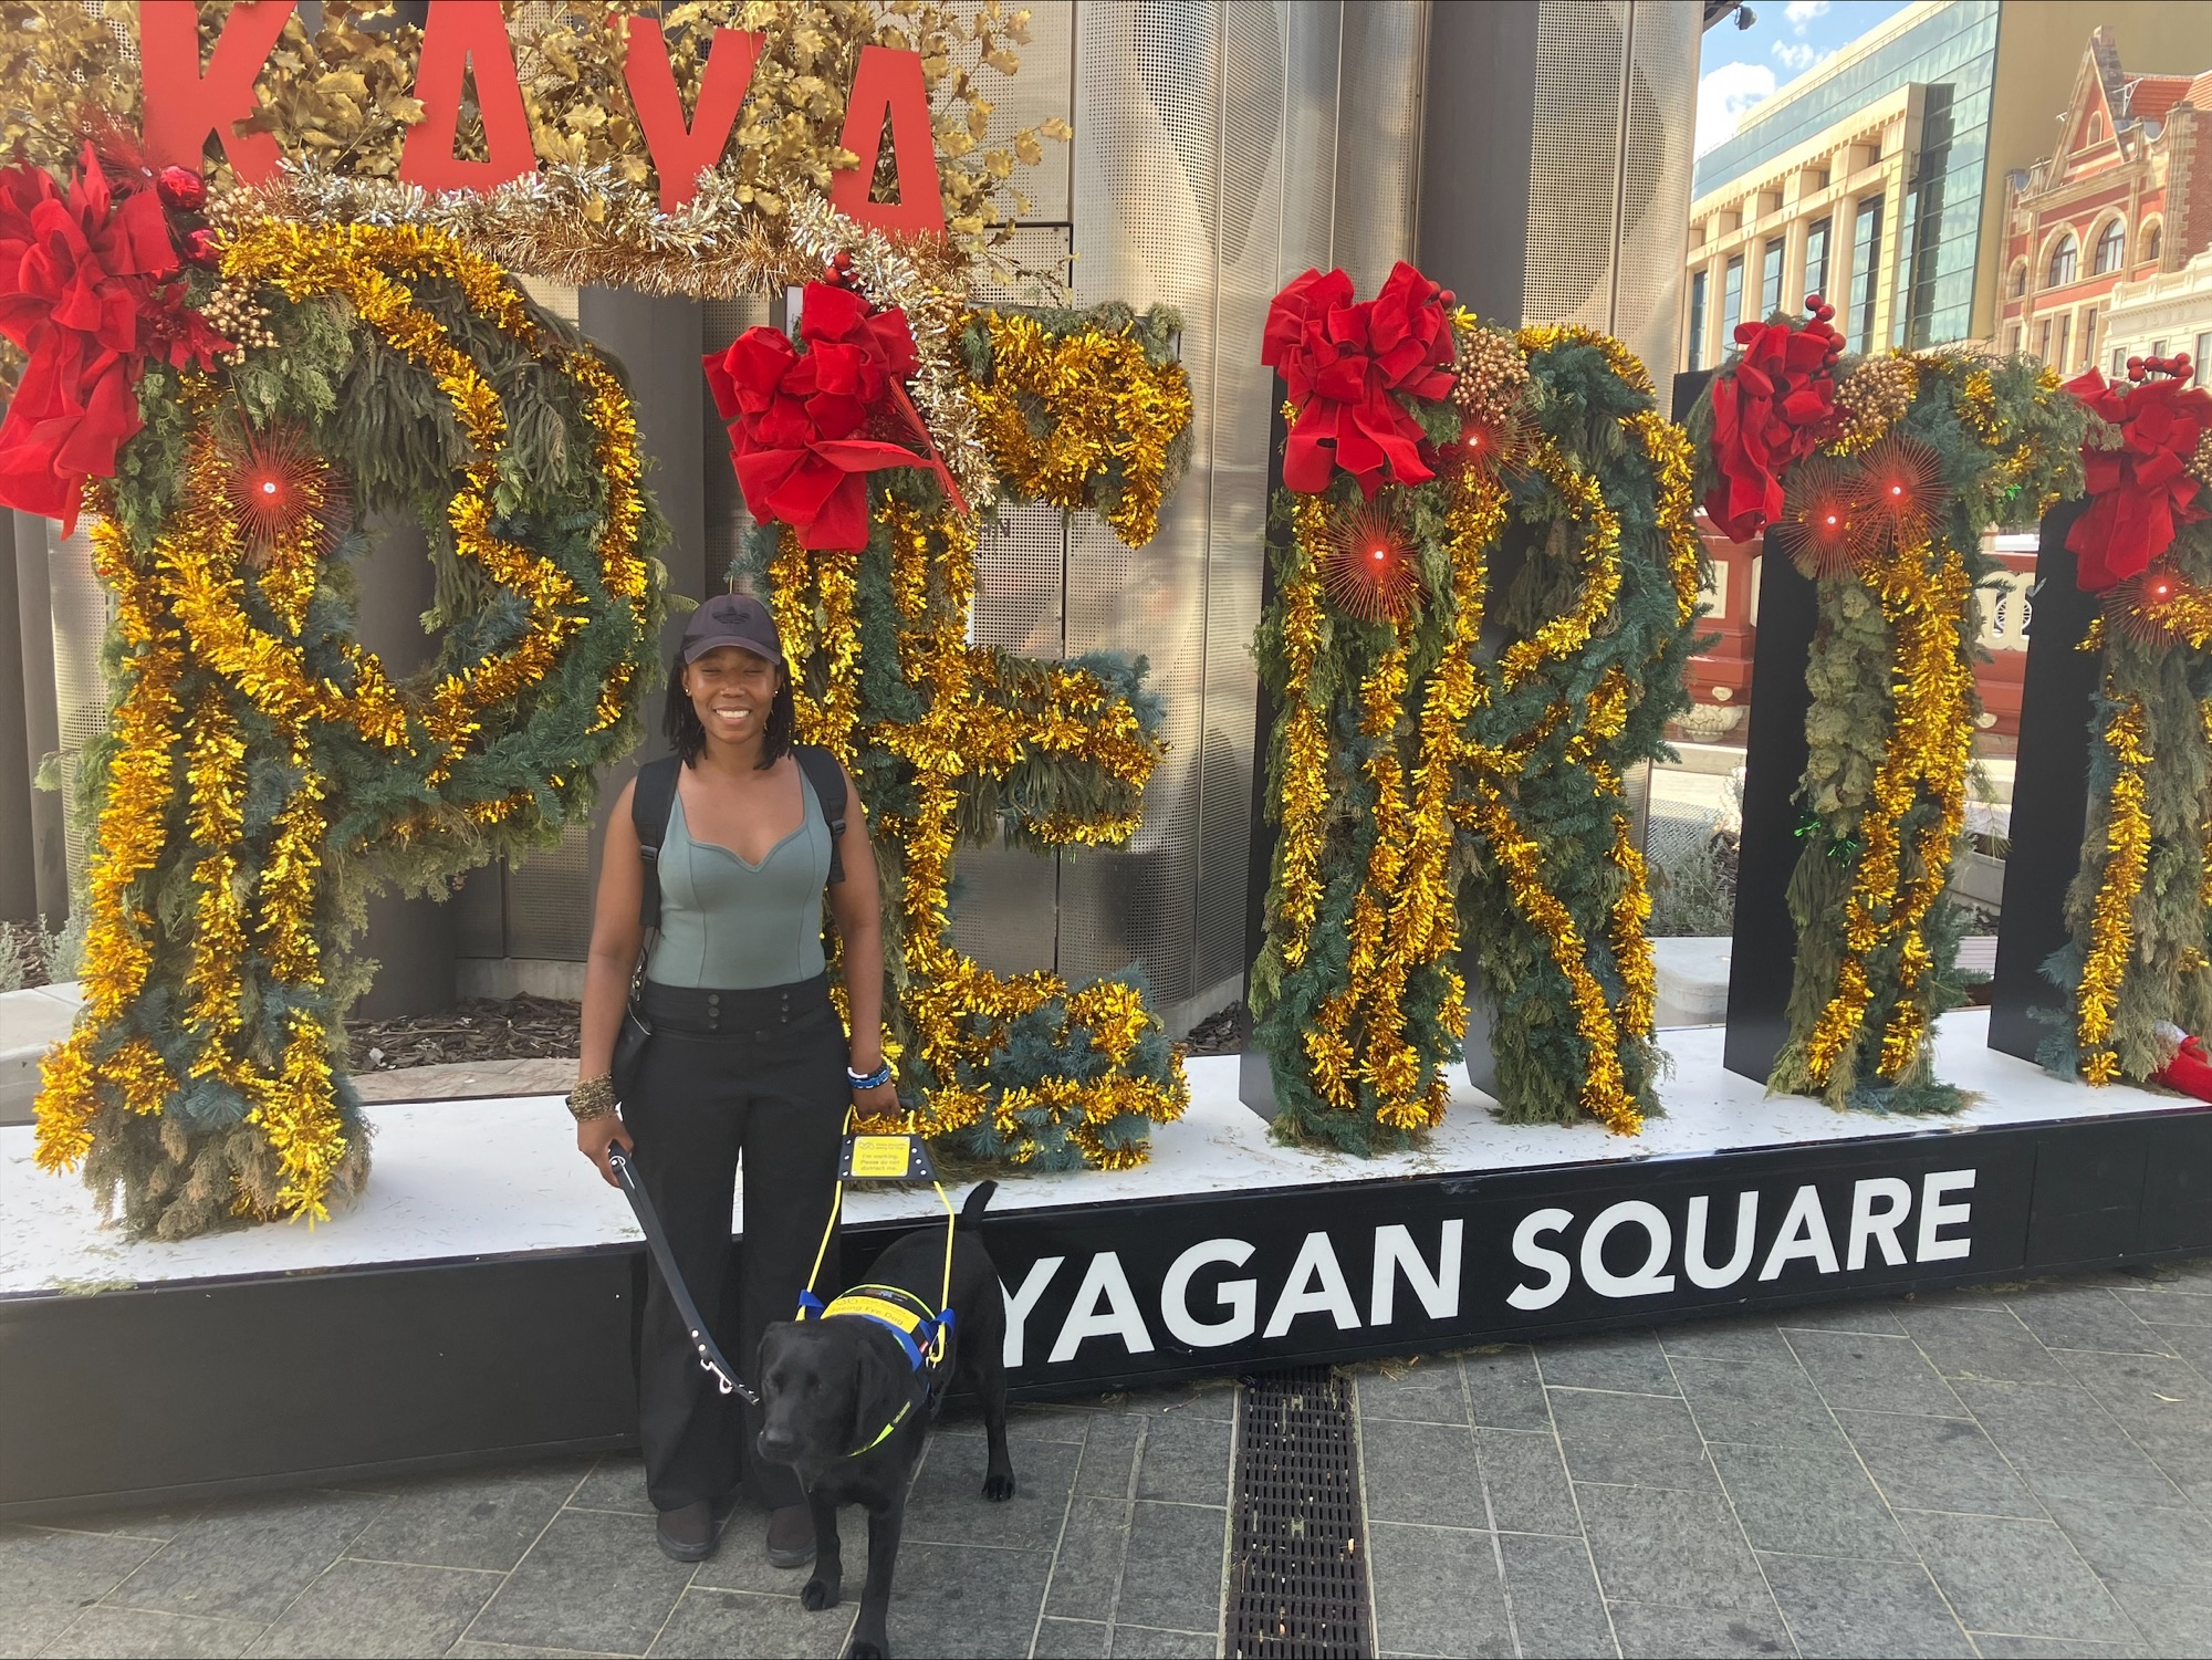
<path id="1" fill-rule="evenodd" d="M 644 987 L 653 1040 L 622 1120 L 684 1284 L 723 1355 L 759 1386 L 761 1332 L 790 1319 L 836 1189 L 852 1087 L 825 978 L 745 992 Z M 743 1275 L 730 1273 L 730 1200 L 745 1169 Z M 730 1284 L 739 1279 L 739 1284 Z M 801 1505 L 790 1465 L 754 1452 L 759 1410 L 699 1368 L 675 1299 L 648 1268 L 637 1430 L 655 1509 L 719 1501 Z M 821 1284 L 843 1288 L 830 1242 Z M 737 1341 L 730 1341 L 730 1339 Z"/>

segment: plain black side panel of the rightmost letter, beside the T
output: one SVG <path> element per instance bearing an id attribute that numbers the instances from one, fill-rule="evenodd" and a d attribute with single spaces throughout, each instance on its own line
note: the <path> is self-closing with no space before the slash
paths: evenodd
<path id="1" fill-rule="evenodd" d="M 2066 1014 L 2066 998 L 2044 978 L 2044 963 L 2066 943 L 2066 888 L 2081 868 L 2088 828 L 2088 728 L 2104 657 L 2081 651 L 2099 606 L 2075 584 L 2075 556 L 2066 551 L 2066 533 L 2081 511 L 2081 502 L 2066 502 L 2044 520 L 2028 591 L 2035 611 L 2020 686 L 1997 972 L 1989 985 L 1989 1047 L 2022 1060 L 2035 1060 L 2037 1045 L 2051 1036 L 2037 1011 Z"/>

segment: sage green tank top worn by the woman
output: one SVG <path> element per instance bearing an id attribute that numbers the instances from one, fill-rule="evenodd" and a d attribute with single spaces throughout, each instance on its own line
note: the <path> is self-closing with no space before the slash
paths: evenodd
<path id="1" fill-rule="evenodd" d="M 668 808 L 661 841 L 661 932 L 646 978 L 741 992 L 812 981 L 823 972 L 823 888 L 830 823 L 814 786 L 799 781 L 799 828 L 748 865 L 728 848 L 692 841 L 684 792 Z"/>

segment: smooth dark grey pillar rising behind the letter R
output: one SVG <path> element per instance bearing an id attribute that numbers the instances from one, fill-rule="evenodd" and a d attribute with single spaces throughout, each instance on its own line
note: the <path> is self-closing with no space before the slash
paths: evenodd
<path id="1" fill-rule="evenodd" d="M 1416 263 L 1482 317 L 1522 321 L 1537 0 L 1429 7 Z"/>

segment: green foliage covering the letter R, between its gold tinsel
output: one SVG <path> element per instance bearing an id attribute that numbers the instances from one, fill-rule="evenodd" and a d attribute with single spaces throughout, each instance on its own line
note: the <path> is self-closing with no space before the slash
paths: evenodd
<path id="1" fill-rule="evenodd" d="M 1493 336 L 1495 339 L 1495 336 Z M 1462 330 L 1464 341 L 1464 330 Z M 1425 1120 L 1407 1109 L 1409 1098 L 1429 1091 L 1438 1102 L 1440 1069 L 1460 1058 L 1464 1020 L 1462 969 L 1471 994 L 1489 1003 L 1498 1096 L 1509 1122 L 1573 1124 L 1590 1107 L 1590 1080 L 1613 1069 L 1613 1122 L 1632 1127 L 1655 1113 L 1652 1078 L 1661 1067 L 1648 1029 L 1632 1029 L 1624 1011 L 1635 1003 L 1632 965 L 1615 950 L 1617 907 L 1635 903 L 1641 868 L 1624 868 L 1610 854 L 1615 821 L 1628 815 L 1621 777 L 1637 761 L 1666 757 L 1666 722 L 1688 702 L 1681 668 L 1692 651 L 1694 615 L 1686 615 L 1677 587 L 1677 560 L 1692 567 L 1699 551 L 1670 547 L 1661 522 L 1668 483 L 1630 425 L 1650 418 L 1650 383 L 1641 367 L 1610 341 L 1577 330 L 1528 330 L 1504 347 L 1526 361 L 1526 385 L 1517 398 L 1517 423 L 1528 445 L 1500 474 L 1504 487 L 1502 525 L 1480 558 L 1482 631 L 1471 653 L 1453 644 L 1458 598 L 1451 513 L 1453 485 L 1447 478 L 1402 489 L 1385 485 L 1380 505 L 1396 513 L 1420 571 L 1422 595 L 1409 613 L 1407 691 L 1387 733 L 1363 730 L 1363 684 L 1398 644 L 1387 622 L 1363 622 L 1323 604 L 1318 649 L 1312 668 L 1296 675 L 1294 593 L 1316 578 L 1325 549 L 1298 533 L 1272 540 L 1274 600 L 1259 631 L 1259 666 L 1276 708 L 1267 755 L 1270 801 L 1283 819 L 1285 788 L 1296 790 L 1290 757 L 1290 726 L 1301 704 L 1318 710 L 1325 726 L 1325 815 L 1318 823 L 1321 881 L 1310 927 L 1285 914 L 1285 861 L 1296 857 L 1290 832 L 1279 841 L 1267 892 L 1267 941 L 1252 974 L 1254 1040 L 1267 1051 L 1279 1104 L 1276 1133 L 1354 1153 L 1376 1153 L 1416 1144 Z M 1462 345 L 1464 354 L 1464 345 Z M 1431 440 L 1460 436 L 1460 409 L 1451 403 L 1409 405 Z M 1672 443 L 1679 434 L 1652 421 Z M 1540 447 L 1551 447 L 1573 469 L 1595 480 L 1606 509 L 1617 516 L 1619 589 L 1613 604 L 1577 649 L 1546 657 L 1533 673 L 1506 688 L 1500 657 L 1531 642 L 1537 631 L 1573 613 L 1590 575 L 1590 513 L 1577 511 L 1555 478 L 1535 465 Z M 1688 527 L 1688 458 L 1677 460 L 1674 502 Z M 1279 491 L 1276 525 L 1290 529 L 1305 498 Z M 1358 485 L 1338 476 L 1321 498 L 1323 511 L 1356 509 Z M 1690 538 L 1694 540 L 1694 538 Z M 1475 549 L 1464 549 L 1462 558 Z M 1329 1027 L 1329 1005 L 1354 985 L 1354 952 L 1363 890 L 1378 837 L 1391 815 L 1383 810 L 1376 761 L 1394 761 L 1407 790 L 1420 777 L 1420 733 L 1427 702 L 1440 695 L 1455 657 L 1473 666 L 1484 688 L 1458 728 L 1449 803 L 1455 821 L 1442 881 L 1433 903 L 1451 910 L 1460 952 L 1416 963 L 1405 978 L 1396 1016 L 1385 1011 L 1365 1031 L 1347 1029 L 1352 1062 L 1340 1069 L 1349 1107 L 1329 1098 L 1310 1034 Z M 1610 719 L 1593 717 L 1606 706 L 1608 688 L 1619 704 Z M 1524 750 L 1511 775 L 1493 775 L 1475 757 Z M 1385 768 L 1387 772 L 1387 768 Z M 1469 812 L 1489 788 L 1520 837 L 1533 843 L 1540 888 L 1564 910 L 1579 934 L 1582 972 L 1595 983 L 1613 1018 L 1606 1054 L 1593 1051 L 1577 1023 L 1575 987 L 1553 954 L 1553 927 L 1528 905 L 1528 883 L 1506 870 L 1493 839 Z M 1635 892 L 1630 892 L 1635 890 Z M 1391 896 L 1369 892 L 1369 903 L 1391 905 Z M 1418 901 L 1413 912 L 1418 912 Z M 1400 930 L 1394 912 L 1391 934 Z M 1294 961 L 1294 938 L 1303 934 L 1303 961 Z M 1641 945 L 1641 919 L 1632 923 Z M 1378 1089 L 1371 1056 L 1380 1045 L 1402 1042 L 1413 1054 L 1411 1089 Z M 1396 1093 L 1396 1102 L 1391 1096 Z"/>

